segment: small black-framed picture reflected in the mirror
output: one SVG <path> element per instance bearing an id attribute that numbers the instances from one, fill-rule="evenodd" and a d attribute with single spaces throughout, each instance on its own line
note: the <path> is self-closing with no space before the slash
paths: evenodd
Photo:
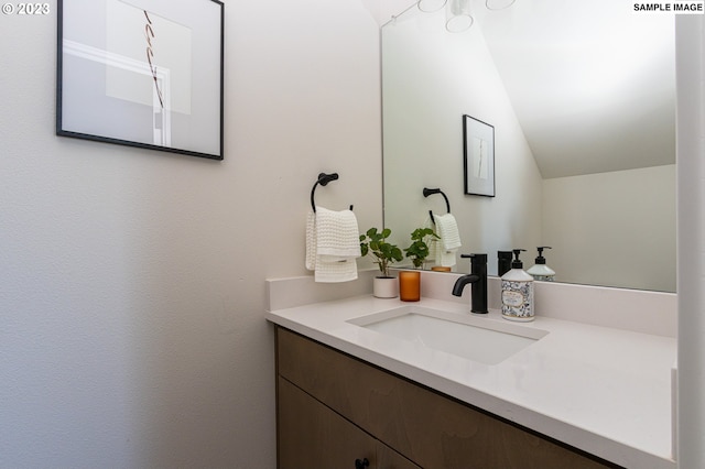
<path id="1" fill-rule="evenodd" d="M 495 127 L 463 116 L 465 194 L 495 197 Z"/>

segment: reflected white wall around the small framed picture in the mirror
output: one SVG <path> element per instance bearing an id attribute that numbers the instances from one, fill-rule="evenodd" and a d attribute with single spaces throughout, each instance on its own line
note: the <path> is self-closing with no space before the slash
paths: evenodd
<path id="1" fill-rule="evenodd" d="M 444 11 L 412 9 L 383 31 L 384 222 L 406 247 L 432 209 L 458 221 L 463 253 L 530 249 L 541 241 L 541 175 L 479 28 L 444 29 Z M 495 127 L 496 194 L 464 195 L 463 114 Z M 481 222 L 480 222 L 481 220 Z M 527 257 L 522 258 L 527 261 Z M 468 272 L 469 262 L 458 262 Z"/>

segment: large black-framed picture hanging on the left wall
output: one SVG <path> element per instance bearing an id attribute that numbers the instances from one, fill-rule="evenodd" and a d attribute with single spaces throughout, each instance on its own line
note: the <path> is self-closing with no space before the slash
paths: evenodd
<path id="1" fill-rule="evenodd" d="M 57 135 L 223 160 L 223 2 L 57 0 Z"/>

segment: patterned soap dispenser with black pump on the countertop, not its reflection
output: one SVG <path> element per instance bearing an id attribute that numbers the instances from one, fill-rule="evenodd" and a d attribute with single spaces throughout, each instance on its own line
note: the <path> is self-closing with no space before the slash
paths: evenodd
<path id="1" fill-rule="evenodd" d="M 523 270 L 519 259 L 524 249 L 514 249 L 511 270 L 502 275 L 502 317 L 509 320 L 529 321 L 533 315 L 533 277 Z"/>

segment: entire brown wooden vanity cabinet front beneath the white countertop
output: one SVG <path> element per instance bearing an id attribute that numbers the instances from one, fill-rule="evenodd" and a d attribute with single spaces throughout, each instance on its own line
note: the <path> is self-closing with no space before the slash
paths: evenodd
<path id="1" fill-rule="evenodd" d="M 618 467 L 280 326 L 276 372 L 280 469 Z"/>

